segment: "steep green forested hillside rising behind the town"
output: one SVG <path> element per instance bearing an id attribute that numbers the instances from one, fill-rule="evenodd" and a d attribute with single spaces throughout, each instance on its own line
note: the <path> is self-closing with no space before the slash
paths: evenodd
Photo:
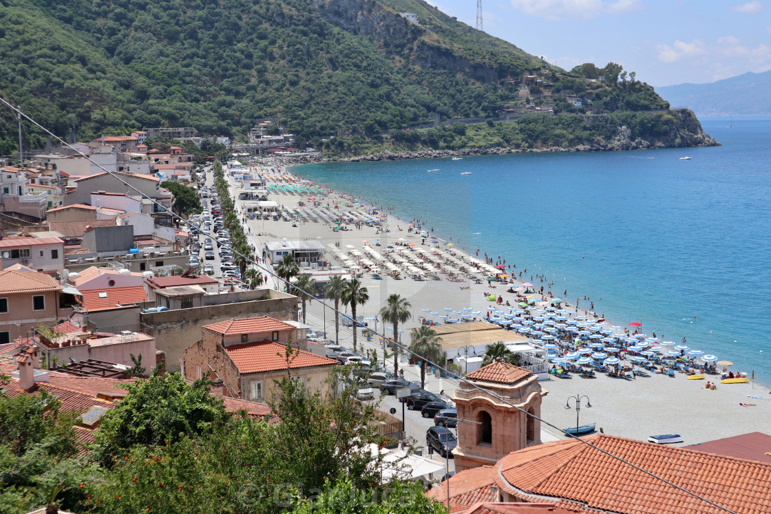
<path id="1" fill-rule="evenodd" d="M 526 101 L 513 81 L 528 74 L 594 99 L 572 109 L 563 97 L 556 110 L 666 106 L 644 84 L 556 69 L 421 0 L 0 2 L 0 92 L 81 140 L 150 126 L 239 137 L 270 118 L 305 141 L 406 128 L 430 113 L 494 117 Z M 0 150 L 14 153 L 7 111 L 0 131 Z"/>

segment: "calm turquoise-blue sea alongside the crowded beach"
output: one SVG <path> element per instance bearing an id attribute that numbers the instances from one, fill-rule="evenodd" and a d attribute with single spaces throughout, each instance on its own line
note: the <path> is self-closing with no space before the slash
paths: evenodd
<path id="1" fill-rule="evenodd" d="M 571 304 L 588 297 L 610 321 L 685 337 L 771 385 L 771 118 L 736 118 L 735 128 L 727 118 L 701 121 L 722 146 L 295 172 L 427 220 L 459 247 L 527 268 L 523 279 L 545 274 Z"/>

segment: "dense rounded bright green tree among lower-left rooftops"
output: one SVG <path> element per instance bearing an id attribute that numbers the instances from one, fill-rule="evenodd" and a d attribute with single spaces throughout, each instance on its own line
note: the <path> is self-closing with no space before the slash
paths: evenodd
<path id="1" fill-rule="evenodd" d="M 166 445 L 207 435 L 229 417 L 206 380 L 188 384 L 179 373 L 167 373 L 125 388 L 129 394 L 102 418 L 96 432 L 95 456 L 103 465 L 111 465 L 133 445 Z"/>

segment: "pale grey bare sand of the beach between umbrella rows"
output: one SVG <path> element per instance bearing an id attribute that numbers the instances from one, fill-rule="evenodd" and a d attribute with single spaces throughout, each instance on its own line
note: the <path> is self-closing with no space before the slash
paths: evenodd
<path id="1" fill-rule="evenodd" d="M 278 160 L 263 160 L 260 161 L 259 166 L 277 166 L 280 164 Z M 269 167 L 262 171 L 267 170 L 269 170 Z M 270 184 L 272 181 L 284 183 L 282 180 L 287 180 L 286 174 L 288 171 L 286 169 L 282 170 L 281 175 L 278 173 L 266 174 L 265 177 L 268 179 L 268 183 Z M 316 198 L 321 202 L 320 207 L 323 207 L 322 213 L 325 212 L 327 204 L 329 205 L 329 210 L 335 212 L 335 202 L 345 211 L 355 210 L 363 213 L 367 208 L 372 207 L 372 204 L 344 207 L 345 204 L 352 205 L 352 198 L 335 192 L 328 192 L 323 197 L 317 196 Z M 272 193 L 271 200 L 276 200 L 282 206 L 291 209 L 298 207 L 299 200 L 308 202 L 306 195 L 291 193 Z M 362 207 L 362 209 L 359 209 L 359 207 Z M 387 206 L 380 207 L 386 209 L 385 212 L 387 212 Z M 385 225 L 389 227 L 389 232 L 379 233 L 375 227 L 368 227 L 363 223 L 361 228 L 356 228 L 349 224 L 348 228 L 350 230 L 334 231 L 332 223 L 329 220 L 325 222 L 321 217 L 318 217 L 316 222 L 306 220 L 305 222 L 297 223 L 296 227 L 293 227 L 291 222 L 284 220 L 249 220 L 248 226 L 251 230 L 251 242 L 256 247 L 260 247 L 264 242 L 281 240 L 282 237 L 286 237 L 288 240 L 318 240 L 325 246 L 332 244 L 338 247 L 343 253 L 356 250 L 362 253 L 364 258 L 366 256 L 366 251 L 363 250 L 365 246 L 372 247 L 372 250 L 379 252 L 379 254 L 382 254 L 389 246 L 395 246 L 394 250 L 398 251 L 402 248 L 401 245 L 410 243 L 414 244 L 415 248 L 426 250 L 429 250 L 430 247 L 438 247 L 439 254 L 442 256 L 448 250 L 453 250 L 453 247 L 448 247 L 445 244 L 447 241 L 440 237 L 440 234 L 430 233 L 430 220 L 423 224 L 423 230 L 428 230 L 430 234 L 429 239 L 426 240 L 426 245 L 422 244 L 422 238 L 418 234 L 407 231 L 406 225 L 411 223 L 411 220 L 399 220 L 390 215 L 383 218 L 383 220 L 385 220 Z M 399 228 L 402 230 L 399 231 Z M 436 237 L 439 244 L 429 244 L 433 240 L 432 236 Z M 376 239 L 379 241 L 375 241 Z M 367 241 L 366 243 L 363 242 L 365 240 Z M 378 243 L 379 246 L 376 246 Z M 396 243 L 400 245 L 396 246 Z M 348 245 L 352 248 L 348 247 Z M 414 253 L 414 250 L 406 248 L 404 250 L 410 252 L 410 254 Z M 463 250 L 463 245 L 459 244 L 457 250 L 464 251 L 470 257 L 476 257 L 476 249 Z M 483 252 L 484 249 L 480 249 L 478 257 L 480 260 L 483 260 Z M 336 269 L 341 267 L 342 262 L 332 252 L 328 252 L 327 256 L 330 257 L 333 267 Z M 497 260 L 497 256 L 491 257 Z M 502 259 L 505 257 L 501 256 Z M 507 262 L 508 264 L 513 263 Z M 407 266 L 408 264 L 403 264 L 405 269 L 408 269 Z M 457 269 L 456 266 L 452 267 Z M 386 270 L 383 269 L 383 271 Z M 483 274 L 477 275 L 483 277 Z M 406 297 L 410 304 L 412 304 L 412 320 L 402 327 L 405 331 L 402 334 L 402 343 L 406 344 L 409 344 L 409 329 L 418 326 L 418 318 L 424 315 L 421 309 L 430 309 L 441 313 L 445 307 L 451 308 L 454 311 L 461 311 L 464 307 L 472 307 L 474 311 L 483 313 L 477 316 L 477 319 L 481 319 L 487 307 L 493 305 L 493 302 L 487 301 L 489 294 L 500 295 L 503 297 L 504 304 L 506 301 L 509 301 L 511 305 L 516 305 L 517 303 L 515 295 L 506 292 L 508 288 L 506 285 L 493 283 L 495 285 L 493 289 L 488 286 L 487 281 L 484 281 L 483 278 L 481 284 L 476 284 L 470 280 L 450 281 L 447 280 L 448 276 L 443 273 L 439 273 L 439 277 L 442 279 L 439 281 L 414 281 L 409 275 L 404 273 L 402 273 L 401 280 L 394 280 L 392 277 L 385 275 L 385 273 L 382 273 L 382 277 L 384 277 L 383 280 L 377 280 L 370 273 L 363 274 L 361 280 L 369 290 L 370 300 L 366 304 L 359 306 L 357 314 L 362 314 L 365 317 L 375 317 L 390 294 L 401 294 L 402 297 Z M 530 281 L 530 273 L 527 273 L 527 277 L 523 274 L 522 280 Z M 533 284 L 540 291 L 541 283 L 537 281 L 537 278 L 535 280 Z M 269 285 L 278 287 L 278 284 L 275 284 L 274 281 Z M 544 284 L 544 286 L 546 285 Z M 544 292 L 547 291 L 548 288 L 544 287 Z M 562 297 L 562 293 L 563 291 L 554 291 L 554 296 Z M 568 291 L 568 293 L 570 294 L 571 292 Z M 572 295 L 571 297 L 574 296 Z M 568 313 L 574 313 L 575 301 L 568 301 L 567 303 L 571 304 L 569 308 L 565 307 Z M 584 306 L 582 301 L 580 307 L 579 314 L 584 314 L 584 308 L 588 307 L 588 305 Z M 603 314 L 607 314 L 609 324 L 614 324 L 612 313 Z M 308 323 L 318 328 L 322 328 L 325 324 L 328 338 L 334 339 L 333 313 L 330 309 L 323 309 L 321 302 L 312 301 L 309 305 Z M 622 327 L 627 326 L 621 320 L 618 320 L 618 324 Z M 370 322 L 370 326 L 372 326 L 372 322 Z M 381 334 L 385 332 L 385 334 L 390 335 L 388 328 L 384 330 L 380 322 L 372 326 L 372 328 Z M 646 331 L 648 328 L 655 330 L 655 321 L 648 322 Z M 340 335 L 341 344 L 350 347 L 352 345 L 351 330 L 341 327 Z M 360 342 L 363 340 L 364 338 L 359 337 Z M 377 338 L 373 338 L 372 342 L 365 342 L 364 348 L 378 349 L 379 354 L 382 355 L 382 350 L 379 350 L 379 344 L 375 341 L 377 341 Z M 670 348 L 665 348 L 665 351 L 668 349 Z M 731 360 L 730 355 L 720 355 L 719 358 Z M 732 371 L 748 370 L 732 368 Z M 417 366 L 406 366 L 406 378 L 411 380 L 419 379 L 419 368 Z M 707 375 L 705 380 L 686 380 L 685 375 L 682 373 L 675 373 L 674 378 L 662 374 L 647 373 L 647 375 L 638 376 L 635 380 L 610 378 L 600 373 L 597 374 L 597 378 L 584 379 L 577 375 L 571 375 L 571 378 L 551 378 L 550 381 L 541 382 L 544 388 L 549 391 L 547 398 L 544 399 L 542 416 L 545 420 L 559 428 L 574 426 L 576 423 L 575 410 L 564 407 L 569 396 L 580 394 L 587 395 L 592 405 L 592 408 L 581 409 L 581 425 L 596 422 L 598 429 L 602 428 L 607 434 L 645 440 L 649 435 L 678 433 L 684 438 L 683 445 L 692 445 L 746 432 L 769 432 L 771 430 L 771 423 L 768 421 L 771 419 L 771 394 L 769 394 L 769 388 L 753 383 L 753 381 L 746 384 L 723 385 L 719 383 L 719 379 L 719 375 Z M 716 380 L 718 382 L 717 390 L 712 391 L 702 388 L 708 380 Z M 427 383 L 426 388 L 434 392 L 444 390 L 449 395 L 456 384 L 457 382 L 452 379 L 432 378 Z M 750 398 L 752 396 L 758 398 Z M 742 403 L 754 405 L 742 406 L 740 405 Z M 547 432 L 554 432 L 548 428 L 545 430 Z M 554 435 L 558 436 L 556 432 Z"/>

